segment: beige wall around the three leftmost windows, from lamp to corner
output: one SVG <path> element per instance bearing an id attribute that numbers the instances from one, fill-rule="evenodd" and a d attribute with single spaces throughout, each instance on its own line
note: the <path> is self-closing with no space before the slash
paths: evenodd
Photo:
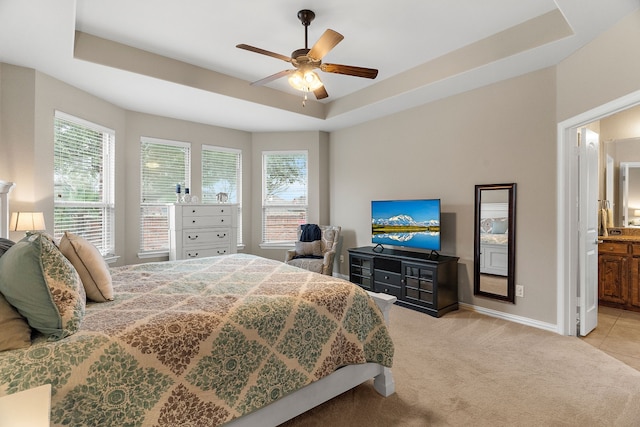
<path id="1" fill-rule="evenodd" d="M 251 210 L 249 132 L 126 111 L 40 72 L 8 64 L 2 64 L 1 69 L 0 173 L 2 179 L 16 183 L 11 194 L 12 211 L 43 211 L 47 229 L 53 231 L 55 110 L 115 131 L 116 255 L 120 257 L 117 265 L 143 261 L 138 258 L 140 136 L 191 143 L 194 194 L 201 192 L 202 144 L 241 149 L 243 204 L 245 209 Z M 249 221 L 245 218 L 245 230 L 250 229 Z M 11 237 L 20 239 L 22 233 L 14 233 Z M 250 244 L 250 235 L 247 237 Z"/>

